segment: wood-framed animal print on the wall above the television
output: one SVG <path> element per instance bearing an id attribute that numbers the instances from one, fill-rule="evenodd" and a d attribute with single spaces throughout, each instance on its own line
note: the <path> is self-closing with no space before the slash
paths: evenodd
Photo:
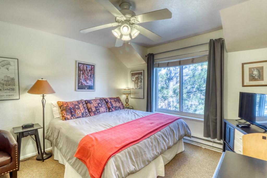
<path id="1" fill-rule="evenodd" d="M 267 60 L 242 63 L 242 86 L 267 86 Z"/>

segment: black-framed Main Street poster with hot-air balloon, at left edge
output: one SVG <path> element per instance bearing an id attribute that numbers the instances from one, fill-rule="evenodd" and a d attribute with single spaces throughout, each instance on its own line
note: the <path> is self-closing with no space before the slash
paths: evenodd
<path id="1" fill-rule="evenodd" d="M 0 57 L 0 100 L 19 99 L 18 59 Z"/>

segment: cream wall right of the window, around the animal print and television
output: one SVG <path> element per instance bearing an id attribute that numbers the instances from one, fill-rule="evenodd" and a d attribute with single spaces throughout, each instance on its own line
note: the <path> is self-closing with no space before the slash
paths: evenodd
<path id="1" fill-rule="evenodd" d="M 225 53 L 224 117 L 238 119 L 239 92 L 267 94 L 267 86 L 242 87 L 242 63 L 267 60 L 267 48 Z"/>

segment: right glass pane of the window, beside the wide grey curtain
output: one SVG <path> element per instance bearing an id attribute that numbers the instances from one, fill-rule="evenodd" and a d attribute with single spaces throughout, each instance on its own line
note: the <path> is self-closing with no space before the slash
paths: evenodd
<path id="1" fill-rule="evenodd" d="M 182 66 L 183 99 L 182 111 L 204 113 L 207 62 Z"/>

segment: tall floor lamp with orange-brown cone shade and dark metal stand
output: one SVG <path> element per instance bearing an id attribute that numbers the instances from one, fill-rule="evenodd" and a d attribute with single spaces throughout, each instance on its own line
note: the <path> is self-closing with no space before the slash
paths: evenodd
<path id="1" fill-rule="evenodd" d="M 38 79 L 35 84 L 28 90 L 30 94 L 41 94 L 42 97 L 42 105 L 43 105 L 43 144 L 44 151 L 43 156 L 44 160 L 48 159 L 52 156 L 52 153 L 45 152 L 45 94 L 53 94 L 56 93 L 47 80 Z M 42 161 L 41 154 L 36 157 L 37 160 Z"/>

